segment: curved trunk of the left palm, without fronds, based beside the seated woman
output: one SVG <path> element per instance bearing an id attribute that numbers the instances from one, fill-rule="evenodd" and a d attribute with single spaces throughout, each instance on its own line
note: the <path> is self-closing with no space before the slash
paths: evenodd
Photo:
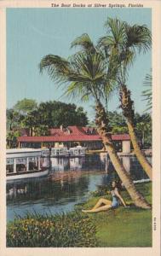
<path id="1" fill-rule="evenodd" d="M 103 108 L 101 102 L 97 102 L 95 107 L 96 118 L 95 123 L 98 126 L 98 133 L 102 138 L 106 151 L 108 152 L 112 165 L 114 166 L 118 176 L 124 183 L 124 187 L 127 189 L 131 199 L 134 201 L 136 207 L 145 209 L 151 208 L 144 197 L 135 189 L 135 185 L 129 176 L 129 173 L 124 169 L 123 164 L 118 159 L 118 154 L 112 144 L 111 135 L 107 131 L 108 120 L 106 118 L 106 111 Z"/>

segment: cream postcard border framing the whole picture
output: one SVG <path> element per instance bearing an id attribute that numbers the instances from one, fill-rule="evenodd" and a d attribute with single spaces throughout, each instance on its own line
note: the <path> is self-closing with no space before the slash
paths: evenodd
<path id="1" fill-rule="evenodd" d="M 124 247 L 124 248 L 6 248 L 5 247 L 5 230 L 6 230 L 6 207 L 5 207 L 5 110 L 6 110 L 6 24 L 5 8 L 51 8 L 51 3 L 73 3 L 73 1 L 0 1 L 0 252 L 2 255 L 32 256 L 32 255 L 141 255 L 141 256 L 158 256 L 160 255 L 160 86 L 161 86 L 161 2 L 160 1 L 80 1 L 75 3 L 141 3 L 144 8 L 152 8 L 152 78 L 153 78 L 153 101 L 152 101 L 152 224 L 153 218 L 157 218 L 157 230 L 152 229 L 152 247 Z M 2 94 L 3 91 L 3 94 Z M 121 234 L 120 234 L 121 235 Z"/>

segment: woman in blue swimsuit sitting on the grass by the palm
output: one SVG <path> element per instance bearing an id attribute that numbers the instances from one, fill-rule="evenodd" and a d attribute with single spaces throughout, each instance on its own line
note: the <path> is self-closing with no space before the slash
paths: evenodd
<path id="1" fill-rule="evenodd" d="M 82 210 L 82 212 L 102 212 L 112 208 L 118 208 L 120 201 L 122 202 L 124 207 L 126 207 L 123 197 L 118 192 L 118 184 L 115 181 L 112 182 L 111 195 L 112 195 L 112 201 L 101 198 L 96 203 L 95 207 L 93 207 L 91 210 Z"/>

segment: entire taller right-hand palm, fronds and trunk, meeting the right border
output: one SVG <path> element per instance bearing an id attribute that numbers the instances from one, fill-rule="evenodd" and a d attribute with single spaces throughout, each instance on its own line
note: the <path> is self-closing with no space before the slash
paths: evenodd
<path id="1" fill-rule="evenodd" d="M 145 53 L 151 47 L 151 32 L 147 26 L 129 26 L 118 19 L 108 19 L 105 26 L 108 34 L 99 40 L 99 46 L 106 52 L 107 59 L 113 63 L 112 66 L 116 67 L 120 108 L 123 110 L 128 125 L 135 155 L 148 177 L 152 179 L 152 166 L 141 151 L 135 134 L 134 102 L 126 85 L 129 67 L 133 64 L 136 54 L 141 51 Z"/>

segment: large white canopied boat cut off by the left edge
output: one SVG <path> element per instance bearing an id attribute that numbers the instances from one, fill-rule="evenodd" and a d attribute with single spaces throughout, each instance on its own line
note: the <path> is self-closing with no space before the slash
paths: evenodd
<path id="1" fill-rule="evenodd" d="M 6 179 L 12 181 L 29 177 L 43 177 L 49 173 L 49 164 L 42 157 L 41 148 L 6 149 Z"/>

